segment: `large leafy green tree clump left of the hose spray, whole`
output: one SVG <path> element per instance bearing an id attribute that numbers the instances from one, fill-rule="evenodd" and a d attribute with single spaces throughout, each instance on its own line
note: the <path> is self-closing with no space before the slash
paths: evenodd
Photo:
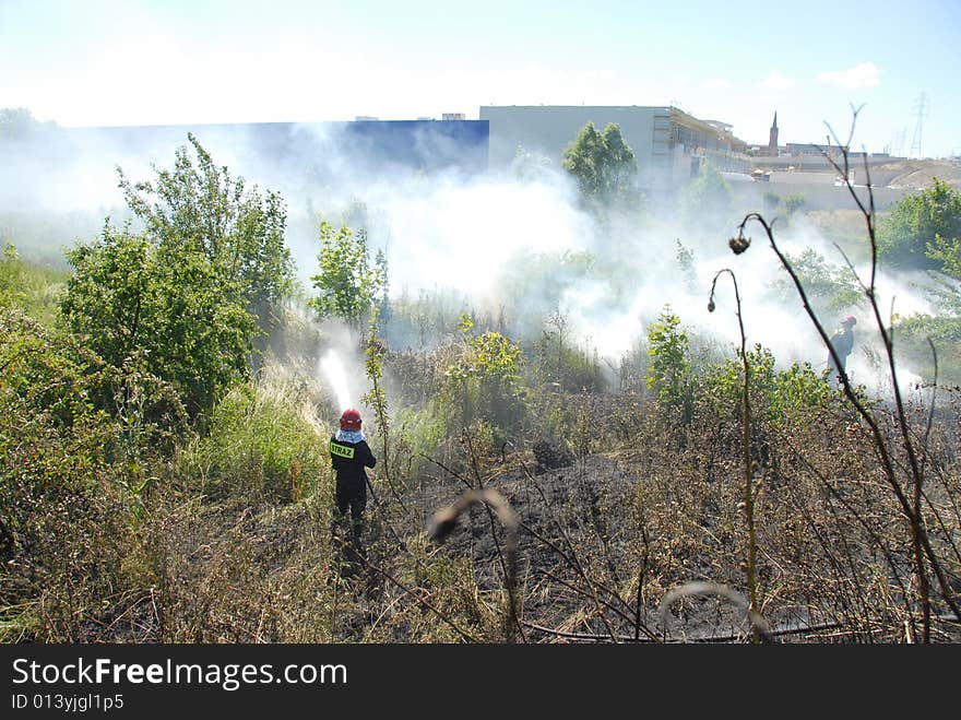
<path id="1" fill-rule="evenodd" d="M 143 232 L 105 226 L 68 253 L 74 273 L 61 311 L 107 363 L 141 357 L 192 416 L 246 378 L 254 343 L 276 324 L 293 283 L 280 196 L 248 191 L 192 134 L 173 169 L 120 187 Z"/>

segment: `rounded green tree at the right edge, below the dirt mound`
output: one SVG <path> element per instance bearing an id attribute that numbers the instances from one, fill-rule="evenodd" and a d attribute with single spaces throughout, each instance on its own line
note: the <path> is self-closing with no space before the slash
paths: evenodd
<path id="1" fill-rule="evenodd" d="M 880 223 L 878 255 L 897 268 L 942 270 L 950 265 L 941 251 L 959 239 L 961 193 L 935 179 L 927 190 L 907 196 L 894 205 Z"/>

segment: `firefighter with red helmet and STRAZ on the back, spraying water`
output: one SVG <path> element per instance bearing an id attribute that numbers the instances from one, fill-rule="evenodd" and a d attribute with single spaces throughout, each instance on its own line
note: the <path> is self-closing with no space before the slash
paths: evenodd
<path id="1" fill-rule="evenodd" d="M 336 473 L 336 500 L 333 531 L 351 508 L 351 526 L 355 544 L 359 544 L 364 530 L 364 508 L 367 505 L 367 471 L 373 468 L 377 458 L 364 439 L 360 429 L 360 413 L 351 408 L 341 415 L 341 429 L 331 437 L 331 465 Z"/>

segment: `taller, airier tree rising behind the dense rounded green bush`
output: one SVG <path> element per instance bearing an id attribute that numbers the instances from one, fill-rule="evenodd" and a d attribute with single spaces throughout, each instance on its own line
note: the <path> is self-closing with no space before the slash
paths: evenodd
<path id="1" fill-rule="evenodd" d="M 118 168 L 120 188 L 152 245 L 198 253 L 222 283 L 239 291 L 262 341 L 277 327 L 293 286 L 284 202 L 276 192 L 248 189 L 244 178 L 217 167 L 193 134 L 187 138 L 195 164 L 179 147 L 174 168 L 156 170 L 153 182 L 133 184 Z"/>

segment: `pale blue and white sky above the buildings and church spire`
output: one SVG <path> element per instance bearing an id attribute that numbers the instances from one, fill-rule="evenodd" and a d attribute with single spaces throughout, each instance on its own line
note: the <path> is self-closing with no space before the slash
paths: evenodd
<path id="1" fill-rule="evenodd" d="M 961 1 L 0 0 L 0 107 L 64 126 L 666 105 L 766 143 L 961 153 Z"/>

